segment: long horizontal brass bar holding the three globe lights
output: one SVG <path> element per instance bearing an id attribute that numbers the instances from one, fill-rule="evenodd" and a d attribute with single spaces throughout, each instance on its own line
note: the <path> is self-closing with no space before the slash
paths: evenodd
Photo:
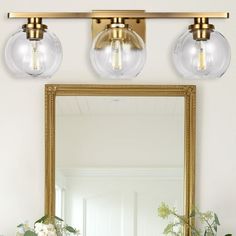
<path id="1" fill-rule="evenodd" d="M 81 18 L 81 19 L 157 19 L 157 18 L 229 18 L 228 12 L 132 12 L 132 11 L 98 11 L 98 12 L 10 12 L 8 18 Z"/>

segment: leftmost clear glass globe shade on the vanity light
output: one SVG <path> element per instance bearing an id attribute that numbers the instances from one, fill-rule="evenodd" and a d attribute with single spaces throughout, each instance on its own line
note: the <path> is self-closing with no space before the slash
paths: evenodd
<path id="1" fill-rule="evenodd" d="M 43 39 L 28 40 L 26 33 L 19 30 L 8 40 L 5 60 L 10 71 L 17 77 L 51 77 L 62 61 L 59 39 L 45 31 Z"/>

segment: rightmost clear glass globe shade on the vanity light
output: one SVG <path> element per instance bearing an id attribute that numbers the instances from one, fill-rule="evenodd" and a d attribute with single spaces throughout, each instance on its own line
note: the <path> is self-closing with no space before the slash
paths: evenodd
<path id="1" fill-rule="evenodd" d="M 196 41 L 190 31 L 184 33 L 173 50 L 177 71 L 186 78 L 218 78 L 230 64 L 230 46 L 226 38 L 217 31 L 210 39 Z"/>

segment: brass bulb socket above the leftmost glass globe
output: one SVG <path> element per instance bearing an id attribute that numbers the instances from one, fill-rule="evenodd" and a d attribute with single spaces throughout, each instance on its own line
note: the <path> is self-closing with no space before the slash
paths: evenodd
<path id="1" fill-rule="evenodd" d="M 28 23 L 22 26 L 26 32 L 26 38 L 29 40 L 39 41 L 43 39 L 43 34 L 48 27 L 42 24 L 42 18 L 28 18 Z"/>

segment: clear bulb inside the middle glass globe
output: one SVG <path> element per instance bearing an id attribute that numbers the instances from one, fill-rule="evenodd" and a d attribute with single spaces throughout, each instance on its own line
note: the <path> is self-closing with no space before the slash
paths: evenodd
<path id="1" fill-rule="evenodd" d="M 113 70 L 122 70 L 122 40 L 112 40 L 111 42 L 111 62 Z"/>

